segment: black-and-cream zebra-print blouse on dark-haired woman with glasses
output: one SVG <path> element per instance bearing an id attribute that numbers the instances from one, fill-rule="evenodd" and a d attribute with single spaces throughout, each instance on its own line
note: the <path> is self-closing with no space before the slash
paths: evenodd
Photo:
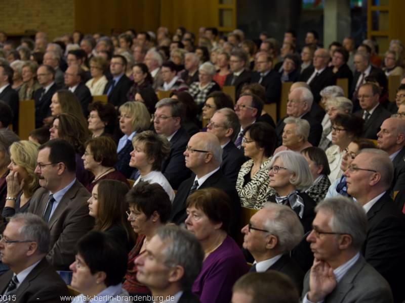
<path id="1" fill-rule="evenodd" d="M 269 187 L 270 178 L 267 167 L 271 159 L 272 157 L 263 162 L 253 179 L 246 184 L 245 176 L 250 175 L 253 160 L 248 160 L 240 167 L 236 180 L 236 191 L 239 195 L 241 206 L 260 210 L 267 202 L 267 197 L 275 194 L 275 190 Z"/>

